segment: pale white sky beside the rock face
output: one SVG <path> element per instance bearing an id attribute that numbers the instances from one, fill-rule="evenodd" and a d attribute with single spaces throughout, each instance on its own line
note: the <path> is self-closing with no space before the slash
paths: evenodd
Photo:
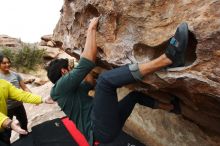
<path id="1" fill-rule="evenodd" d="M 0 35 L 40 42 L 53 34 L 62 5 L 63 0 L 0 0 Z"/>

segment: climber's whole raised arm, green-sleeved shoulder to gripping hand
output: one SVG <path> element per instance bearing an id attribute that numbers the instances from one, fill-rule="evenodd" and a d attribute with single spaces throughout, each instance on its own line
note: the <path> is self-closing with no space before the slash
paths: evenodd
<path id="1" fill-rule="evenodd" d="M 81 54 L 79 64 L 72 69 L 69 74 L 66 74 L 60 79 L 55 86 L 57 93 L 67 92 L 69 90 L 76 90 L 81 82 L 85 80 L 89 72 L 95 67 L 95 60 L 97 54 L 96 46 L 96 28 L 98 18 L 91 19 L 87 31 L 85 48 Z M 87 80 L 87 79 L 86 79 Z M 65 88 L 64 88 L 65 86 Z"/>

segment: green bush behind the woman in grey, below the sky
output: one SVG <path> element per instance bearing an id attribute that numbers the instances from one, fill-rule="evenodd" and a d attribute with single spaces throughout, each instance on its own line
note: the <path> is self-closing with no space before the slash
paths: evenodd
<path id="1" fill-rule="evenodd" d="M 37 65 L 42 65 L 45 54 L 44 49 L 38 49 L 36 45 L 30 44 L 22 44 L 22 48 L 17 51 L 3 47 L 2 52 L 11 59 L 12 67 L 24 72 L 35 69 Z"/>

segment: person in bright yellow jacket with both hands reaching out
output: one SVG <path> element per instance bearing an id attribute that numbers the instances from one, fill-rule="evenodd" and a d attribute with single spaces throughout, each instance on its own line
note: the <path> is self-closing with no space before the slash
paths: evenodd
<path id="1" fill-rule="evenodd" d="M 19 126 L 17 120 L 12 120 L 7 116 L 7 99 L 13 99 L 32 104 L 54 103 L 50 97 L 42 98 L 38 95 L 23 91 L 14 87 L 6 80 L 0 79 L 0 144 L 10 144 L 10 137 L 5 138 L 4 132 L 14 130 L 19 134 L 26 135 L 28 132 Z"/>

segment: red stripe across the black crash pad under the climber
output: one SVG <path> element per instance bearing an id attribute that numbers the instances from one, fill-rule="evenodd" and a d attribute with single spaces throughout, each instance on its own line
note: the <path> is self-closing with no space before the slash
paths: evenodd
<path id="1" fill-rule="evenodd" d="M 79 146 L 89 146 L 89 143 L 87 142 L 84 135 L 76 128 L 75 123 L 73 121 L 69 120 L 68 117 L 63 118 L 62 122 L 66 129 L 69 131 L 70 135 L 73 137 L 73 139 L 78 143 Z"/>

